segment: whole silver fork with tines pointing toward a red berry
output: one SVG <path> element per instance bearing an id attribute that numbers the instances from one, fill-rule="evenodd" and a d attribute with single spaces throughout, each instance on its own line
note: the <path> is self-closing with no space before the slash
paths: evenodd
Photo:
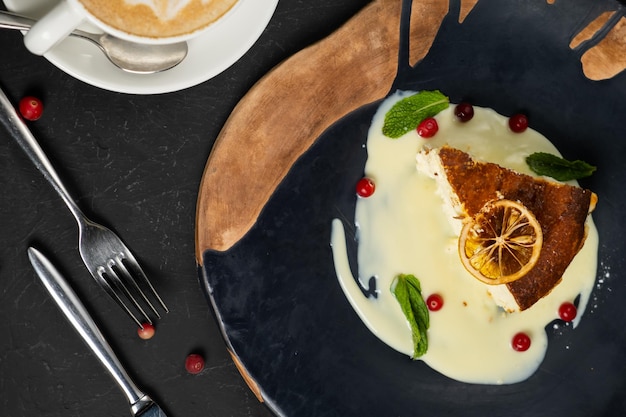
<path id="1" fill-rule="evenodd" d="M 0 111 L 0 122 L 26 152 L 37 169 L 52 184 L 74 215 L 79 229 L 80 256 L 94 279 L 141 328 L 143 328 L 143 323 L 152 323 L 152 320 L 140 301 L 147 305 L 157 318 L 161 317 L 146 292 L 167 313 L 169 311 L 167 306 L 121 239 L 106 227 L 89 220 L 80 210 L 2 89 L 0 89 L 0 105 L 4 110 Z M 124 300 L 130 303 L 130 306 Z M 140 313 L 139 317 L 136 312 Z"/>

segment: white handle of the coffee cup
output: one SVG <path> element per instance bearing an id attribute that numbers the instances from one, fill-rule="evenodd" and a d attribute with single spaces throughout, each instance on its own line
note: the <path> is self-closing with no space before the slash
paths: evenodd
<path id="1" fill-rule="evenodd" d="M 68 1 L 61 1 L 24 35 L 26 48 L 43 55 L 65 39 L 85 20 L 85 15 Z"/>

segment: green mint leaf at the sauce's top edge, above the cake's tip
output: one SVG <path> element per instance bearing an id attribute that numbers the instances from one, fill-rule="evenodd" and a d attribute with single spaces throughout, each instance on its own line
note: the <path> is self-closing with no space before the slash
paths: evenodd
<path id="1" fill-rule="evenodd" d="M 433 117 L 450 105 L 448 97 L 439 90 L 420 91 L 394 104 L 385 114 L 383 135 L 397 139 L 417 128 L 422 120 Z"/>

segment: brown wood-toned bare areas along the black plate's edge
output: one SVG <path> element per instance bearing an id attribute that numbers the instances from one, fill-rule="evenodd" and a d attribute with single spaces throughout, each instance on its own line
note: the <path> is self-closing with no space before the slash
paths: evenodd
<path id="1" fill-rule="evenodd" d="M 461 1 L 461 21 L 477 2 Z M 324 130 L 389 92 L 397 69 L 400 8 L 400 0 L 371 2 L 335 33 L 269 72 L 239 102 L 202 178 L 196 214 L 198 265 L 205 250 L 224 251 L 241 239 L 294 161 Z M 411 63 L 426 55 L 448 8 L 448 0 L 414 2 Z M 591 39 L 613 15 L 598 16 L 570 46 Z M 587 77 L 609 78 L 626 67 L 622 20 L 612 23 L 615 27 L 603 41 L 582 56 Z"/>

